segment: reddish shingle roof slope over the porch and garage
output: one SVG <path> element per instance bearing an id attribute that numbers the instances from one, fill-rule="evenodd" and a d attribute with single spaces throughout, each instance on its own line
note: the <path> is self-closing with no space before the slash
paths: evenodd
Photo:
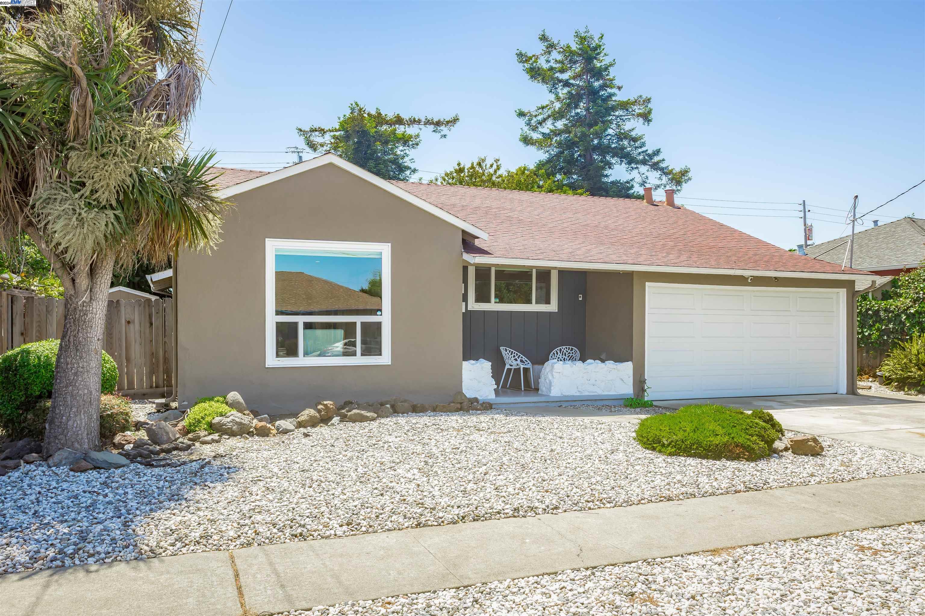
<path id="1" fill-rule="evenodd" d="M 549 193 L 392 182 L 488 233 L 468 242 L 477 256 L 626 265 L 852 273 L 686 208 Z M 854 271 L 854 273 L 862 273 Z"/>

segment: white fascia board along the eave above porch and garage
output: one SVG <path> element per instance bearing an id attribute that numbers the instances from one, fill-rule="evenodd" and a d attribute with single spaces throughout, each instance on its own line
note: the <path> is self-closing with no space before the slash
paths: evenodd
<path id="1" fill-rule="evenodd" d="M 592 261 L 557 261 L 538 259 L 496 259 L 476 257 L 466 252 L 462 260 L 476 265 L 522 265 L 558 270 L 595 270 L 600 272 L 665 272 L 665 273 L 713 273 L 718 275 L 753 276 L 764 278 L 813 278 L 819 280 L 877 280 L 882 276 L 871 273 L 823 273 L 823 272 L 769 272 L 766 270 L 729 270 L 720 268 L 676 267 L 672 265 L 635 265 L 629 263 L 597 263 Z"/>

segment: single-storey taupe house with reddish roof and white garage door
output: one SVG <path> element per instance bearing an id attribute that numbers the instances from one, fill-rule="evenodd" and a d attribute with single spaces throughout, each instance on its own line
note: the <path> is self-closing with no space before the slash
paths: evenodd
<path id="1" fill-rule="evenodd" d="M 647 199 L 387 182 L 325 154 L 228 171 L 213 254 L 181 253 L 179 401 L 262 412 L 445 401 L 462 361 L 568 344 L 654 399 L 855 391 L 856 280 Z M 851 349 L 852 353 L 848 353 Z"/>

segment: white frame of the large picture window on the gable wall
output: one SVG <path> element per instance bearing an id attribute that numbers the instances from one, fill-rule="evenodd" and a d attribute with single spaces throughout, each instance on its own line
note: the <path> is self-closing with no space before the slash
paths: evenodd
<path id="1" fill-rule="evenodd" d="M 314 248 L 317 250 L 376 250 L 382 253 L 382 316 L 306 316 L 286 315 L 277 317 L 276 306 L 276 248 Z M 392 363 L 392 268 L 391 244 L 370 242 L 324 242 L 304 239 L 266 239 L 266 368 L 284 368 L 287 366 L 370 366 L 390 365 Z M 277 357 L 277 322 L 278 321 L 378 321 L 382 323 L 382 356 L 355 357 L 302 357 L 302 328 L 299 328 L 299 356 Z M 357 325 L 357 348 L 360 348 L 361 330 Z"/>

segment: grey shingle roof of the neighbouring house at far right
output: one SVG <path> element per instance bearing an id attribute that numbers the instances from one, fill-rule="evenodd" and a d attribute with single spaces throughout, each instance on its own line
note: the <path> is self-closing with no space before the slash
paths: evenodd
<path id="1" fill-rule="evenodd" d="M 807 248 L 816 259 L 845 261 L 848 237 L 839 237 Z M 854 264 L 862 270 L 892 270 L 925 259 L 925 219 L 900 218 L 855 233 Z"/>

